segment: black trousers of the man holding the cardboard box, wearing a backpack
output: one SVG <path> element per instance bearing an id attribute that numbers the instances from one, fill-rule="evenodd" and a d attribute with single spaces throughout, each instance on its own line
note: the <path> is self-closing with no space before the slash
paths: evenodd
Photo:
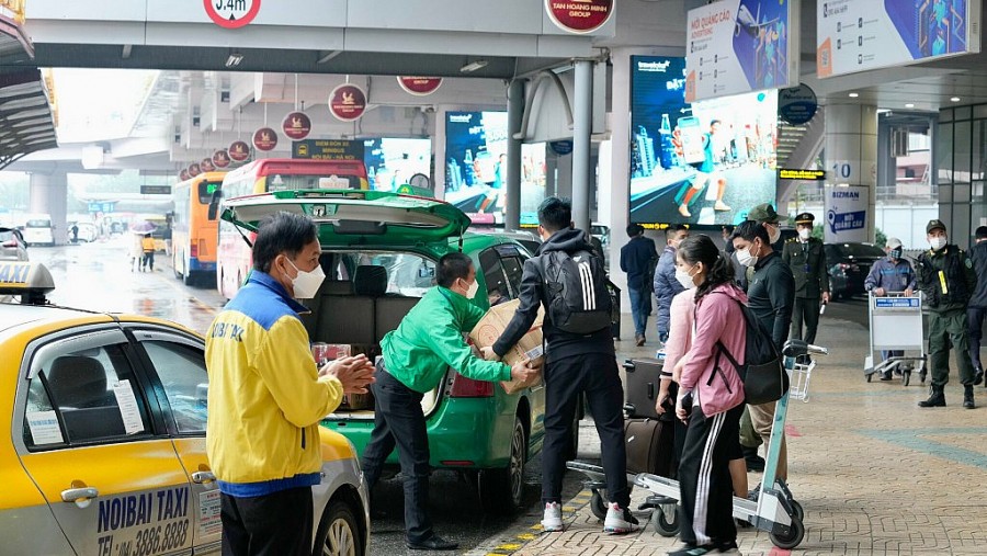
<path id="1" fill-rule="evenodd" d="M 560 502 L 566 452 L 572 441 L 576 405 L 586 394 L 600 435 L 606 493 L 621 508 L 631 503 L 624 445 L 624 387 L 616 359 L 602 353 L 574 355 L 545 365 L 545 443 L 542 447 L 542 501 Z"/>

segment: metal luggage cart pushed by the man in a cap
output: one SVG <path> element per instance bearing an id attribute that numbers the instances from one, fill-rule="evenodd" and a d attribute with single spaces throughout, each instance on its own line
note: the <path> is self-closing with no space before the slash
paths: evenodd
<path id="1" fill-rule="evenodd" d="M 895 373 L 900 374 L 901 384 L 908 386 L 915 366 L 918 366 L 919 379 L 926 382 L 928 354 L 922 307 L 921 293 L 906 296 L 903 292 L 888 292 L 884 297 L 876 297 L 873 292 L 867 294 L 871 337 L 871 351 L 864 358 L 864 377 L 867 382 L 877 373 Z M 918 355 L 896 355 L 875 365 L 875 353 L 882 350 L 917 351 Z"/>

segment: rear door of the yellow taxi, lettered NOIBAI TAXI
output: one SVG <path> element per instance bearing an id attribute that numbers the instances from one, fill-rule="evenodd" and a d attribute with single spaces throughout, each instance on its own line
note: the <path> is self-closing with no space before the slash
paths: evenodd
<path id="1" fill-rule="evenodd" d="M 66 334 L 24 358 L 15 444 L 79 555 L 192 552 L 189 479 L 134 360 L 120 328 Z"/>

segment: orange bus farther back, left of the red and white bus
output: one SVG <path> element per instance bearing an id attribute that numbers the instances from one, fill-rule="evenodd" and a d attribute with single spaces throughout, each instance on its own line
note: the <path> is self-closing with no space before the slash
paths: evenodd
<path id="1" fill-rule="evenodd" d="M 171 263 L 174 277 L 185 284 L 215 275 L 218 227 L 217 218 L 211 220 L 208 212 L 224 177 L 226 172 L 205 172 L 171 188 Z"/>

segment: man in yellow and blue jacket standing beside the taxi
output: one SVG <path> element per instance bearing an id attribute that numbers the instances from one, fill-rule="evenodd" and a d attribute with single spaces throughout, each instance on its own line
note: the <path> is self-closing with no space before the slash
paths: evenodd
<path id="1" fill-rule="evenodd" d="M 218 479 L 223 554 L 311 554 L 318 422 L 373 382 L 365 356 L 316 367 L 293 297 L 325 279 L 316 225 L 277 213 L 253 245 L 253 272 L 206 333 L 206 450 Z"/>

